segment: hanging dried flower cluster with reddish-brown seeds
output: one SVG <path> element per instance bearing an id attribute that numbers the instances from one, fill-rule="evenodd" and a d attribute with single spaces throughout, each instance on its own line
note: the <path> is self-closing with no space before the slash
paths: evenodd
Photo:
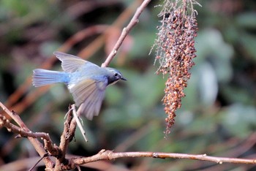
<path id="1" fill-rule="evenodd" d="M 193 4 L 195 1 L 165 0 L 160 13 L 162 26 L 158 28 L 155 46 L 156 61 L 160 64 L 157 74 L 168 75 L 165 96 L 162 99 L 167 114 L 165 134 L 170 133 L 176 110 L 181 107 L 181 97 L 185 96 L 184 88 L 187 87 L 190 77 L 189 69 L 194 65 L 192 59 L 196 57 L 194 39 L 197 36 L 197 20 L 196 11 L 192 9 Z"/>

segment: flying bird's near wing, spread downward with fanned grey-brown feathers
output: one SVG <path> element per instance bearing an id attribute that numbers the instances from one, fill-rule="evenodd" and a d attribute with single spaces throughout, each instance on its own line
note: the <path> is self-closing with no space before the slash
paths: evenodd
<path id="1" fill-rule="evenodd" d="M 79 83 L 68 86 L 75 105 L 83 107 L 83 114 L 92 120 L 94 115 L 99 115 L 102 100 L 105 96 L 105 88 L 108 80 L 95 81 L 91 79 L 81 80 Z"/>

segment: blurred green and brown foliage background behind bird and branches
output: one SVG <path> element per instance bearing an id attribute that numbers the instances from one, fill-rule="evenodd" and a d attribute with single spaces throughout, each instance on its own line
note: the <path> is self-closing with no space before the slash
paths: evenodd
<path id="1" fill-rule="evenodd" d="M 154 45 L 162 1 L 151 1 L 110 66 L 127 82 L 107 89 L 99 116 L 83 118 L 89 142 L 77 130 L 69 154 L 91 156 L 102 148 L 122 151 L 207 153 L 256 158 L 256 1 L 209 0 L 195 6 L 197 58 L 187 96 L 165 139 L 161 102 L 165 79 L 155 75 Z M 33 132 L 59 144 L 72 96 L 63 84 L 34 88 L 32 70 L 61 70 L 60 50 L 101 65 L 141 0 L 0 1 L 0 101 Z M 104 36 L 103 36 L 104 35 Z M 3 113 L 1 111 L 1 113 Z M 26 138 L 0 129 L 0 167 L 38 156 Z M 25 162 L 25 161 L 24 161 Z M 18 163 L 17 170 L 27 170 Z M 25 164 L 25 163 L 23 163 Z M 90 169 L 89 169 L 90 167 Z M 44 170 L 39 167 L 38 170 Z M 214 164 L 185 159 L 127 158 L 82 170 L 255 170 L 251 164 Z"/>

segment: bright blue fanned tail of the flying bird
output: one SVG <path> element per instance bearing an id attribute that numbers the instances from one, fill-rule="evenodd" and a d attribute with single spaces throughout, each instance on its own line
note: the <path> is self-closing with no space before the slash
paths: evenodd
<path id="1" fill-rule="evenodd" d="M 33 85 L 35 87 L 45 86 L 53 83 L 68 83 L 69 74 L 66 72 L 50 71 L 46 69 L 33 70 Z"/>

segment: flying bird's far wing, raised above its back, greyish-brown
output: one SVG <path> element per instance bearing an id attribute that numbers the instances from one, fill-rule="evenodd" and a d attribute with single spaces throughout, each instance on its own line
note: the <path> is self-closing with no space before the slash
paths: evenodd
<path id="1" fill-rule="evenodd" d="M 85 61 L 78 56 L 72 56 L 67 53 L 54 52 L 53 53 L 59 60 L 61 61 L 61 67 L 65 72 L 75 72 L 80 66 L 88 65 L 88 66 L 97 66 L 96 64 L 92 64 L 89 61 Z"/>

